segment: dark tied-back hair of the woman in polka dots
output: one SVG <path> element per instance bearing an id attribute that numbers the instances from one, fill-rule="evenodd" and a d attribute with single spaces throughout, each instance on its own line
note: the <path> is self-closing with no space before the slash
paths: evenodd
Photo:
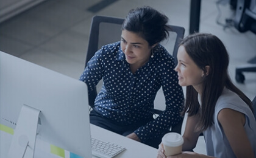
<path id="1" fill-rule="evenodd" d="M 167 16 L 152 7 L 144 6 L 130 10 L 122 30 L 138 33 L 141 38 L 148 41 L 149 46 L 152 46 L 169 36 L 167 22 Z"/>

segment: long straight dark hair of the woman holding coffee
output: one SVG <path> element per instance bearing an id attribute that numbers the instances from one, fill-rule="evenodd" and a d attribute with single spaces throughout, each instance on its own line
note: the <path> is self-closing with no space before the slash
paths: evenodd
<path id="1" fill-rule="evenodd" d="M 228 74 L 229 55 L 226 47 L 218 37 L 208 33 L 194 33 L 184 38 L 180 45 L 185 47 L 186 52 L 196 65 L 205 71 L 209 66 L 208 75 L 202 82 L 201 112 L 197 99 L 197 91 L 193 86 L 187 86 L 185 109 L 183 113 L 200 116 L 197 124 L 199 131 L 205 131 L 213 124 L 216 101 L 224 87 L 238 94 L 238 96 L 252 109 L 252 101 L 244 95 L 240 89 L 230 80 Z"/>

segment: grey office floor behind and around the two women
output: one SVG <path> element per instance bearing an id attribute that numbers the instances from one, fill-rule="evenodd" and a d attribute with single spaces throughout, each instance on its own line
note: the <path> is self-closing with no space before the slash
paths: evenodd
<path id="1" fill-rule="evenodd" d="M 234 12 L 228 1 L 218 1 L 219 5 L 216 2 L 202 0 L 199 32 L 213 33 L 223 41 L 230 55 L 230 78 L 252 99 L 256 94 L 255 73 L 244 73 L 244 84 L 236 83 L 235 67 L 255 57 L 256 35 L 240 33 L 234 27 L 224 28 L 226 19 L 232 18 Z M 124 18 L 130 9 L 142 5 L 165 13 L 169 24 L 183 26 L 185 36 L 188 35 L 190 1 L 187 0 L 51 0 L 2 22 L 0 50 L 78 79 L 84 69 L 91 18 L 94 15 Z M 156 105 L 164 105 L 162 100 L 157 97 Z M 204 145 L 201 137 L 194 151 L 205 153 Z"/>

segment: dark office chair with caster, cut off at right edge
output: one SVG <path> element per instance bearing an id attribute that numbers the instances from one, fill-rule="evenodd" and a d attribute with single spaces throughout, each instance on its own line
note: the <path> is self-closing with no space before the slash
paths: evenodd
<path id="1" fill-rule="evenodd" d="M 239 32 L 251 30 L 256 34 L 256 0 L 237 0 L 234 24 Z M 238 83 L 244 83 L 242 72 L 256 72 L 256 57 L 248 62 L 251 64 L 236 67 L 235 80 Z"/>

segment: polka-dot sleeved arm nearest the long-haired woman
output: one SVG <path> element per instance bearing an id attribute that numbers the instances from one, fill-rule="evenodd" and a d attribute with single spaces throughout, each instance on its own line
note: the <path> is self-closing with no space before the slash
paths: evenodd
<path id="1" fill-rule="evenodd" d="M 169 58 L 168 52 L 160 52 L 157 57 L 158 60 L 163 61 L 160 64 L 152 65 L 156 67 L 155 72 L 151 73 L 152 77 L 145 77 L 154 83 L 150 83 L 148 86 L 152 92 L 157 93 L 157 89 L 162 86 L 166 108 L 156 119 L 134 131 L 141 142 L 162 136 L 163 132 L 169 131 L 171 126 L 176 126 L 182 119 L 180 111 L 183 109 L 184 95 L 182 87 L 178 84 L 177 72 L 173 70 L 175 63 L 172 58 Z M 151 96 L 155 96 L 155 94 L 152 93 Z"/>

